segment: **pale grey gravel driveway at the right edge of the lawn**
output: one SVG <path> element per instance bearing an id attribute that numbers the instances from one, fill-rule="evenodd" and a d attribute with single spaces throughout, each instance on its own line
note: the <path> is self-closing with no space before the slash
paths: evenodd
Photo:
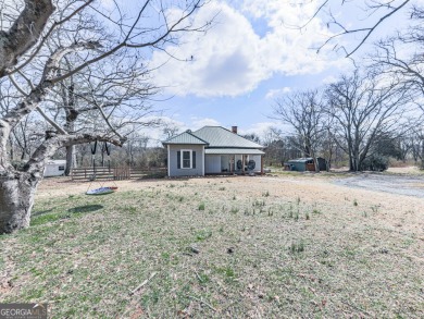
<path id="1" fill-rule="evenodd" d="M 352 177 L 336 180 L 334 183 L 348 187 L 424 198 L 424 177 L 422 176 L 359 174 Z"/>

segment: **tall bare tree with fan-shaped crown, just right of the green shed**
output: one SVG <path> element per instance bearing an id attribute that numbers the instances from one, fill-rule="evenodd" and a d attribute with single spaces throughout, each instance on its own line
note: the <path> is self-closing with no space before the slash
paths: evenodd
<path id="1" fill-rule="evenodd" d="M 404 87 L 362 76 L 359 71 L 329 85 L 326 99 L 332 134 L 349 156 L 351 171 L 361 170 L 378 136 L 399 128 L 409 102 Z"/>

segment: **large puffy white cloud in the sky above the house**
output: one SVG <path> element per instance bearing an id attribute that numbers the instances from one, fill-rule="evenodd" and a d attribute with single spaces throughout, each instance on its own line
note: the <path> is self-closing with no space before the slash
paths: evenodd
<path id="1" fill-rule="evenodd" d="M 305 22 L 315 9 L 316 3 L 301 7 L 279 0 L 245 0 L 239 10 L 222 1 L 211 2 L 199 10 L 195 21 L 202 24 L 219 12 L 213 27 L 204 36 L 186 34 L 183 46 L 167 48 L 187 62 L 157 51 L 151 65 L 167 62 L 153 78 L 170 94 L 210 97 L 252 91 L 275 73 L 319 73 L 338 63 L 311 49 L 328 37 L 326 27 L 320 20 L 313 20 L 302 33 L 285 27 Z M 244 14 L 266 21 L 270 32 L 260 37 Z"/>

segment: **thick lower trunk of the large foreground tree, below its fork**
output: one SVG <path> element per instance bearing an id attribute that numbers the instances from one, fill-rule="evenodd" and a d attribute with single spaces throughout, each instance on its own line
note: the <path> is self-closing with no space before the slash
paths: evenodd
<path id="1" fill-rule="evenodd" d="M 0 234 L 29 226 L 34 195 L 40 176 L 14 172 L 0 176 Z"/>

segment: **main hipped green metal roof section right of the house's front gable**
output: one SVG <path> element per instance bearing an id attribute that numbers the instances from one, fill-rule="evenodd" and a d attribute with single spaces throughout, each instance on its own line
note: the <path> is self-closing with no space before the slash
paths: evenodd
<path id="1" fill-rule="evenodd" d="M 208 142 L 208 148 L 264 148 L 262 145 L 246 139 L 221 126 L 204 126 L 192 132 L 194 135 Z"/>

